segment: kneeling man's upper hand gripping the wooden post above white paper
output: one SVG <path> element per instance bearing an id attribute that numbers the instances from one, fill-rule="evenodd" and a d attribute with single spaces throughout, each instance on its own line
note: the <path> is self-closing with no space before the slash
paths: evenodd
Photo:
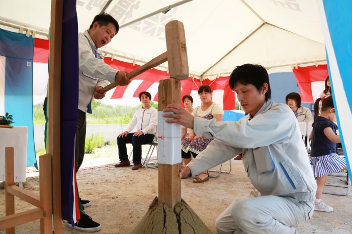
<path id="1" fill-rule="evenodd" d="M 166 120 L 169 124 L 180 124 L 189 129 L 193 129 L 194 116 L 190 114 L 186 109 L 182 108 L 180 105 L 169 104 L 163 112 L 173 112 L 173 114 L 163 114 L 165 118 L 173 118 L 172 120 Z"/>

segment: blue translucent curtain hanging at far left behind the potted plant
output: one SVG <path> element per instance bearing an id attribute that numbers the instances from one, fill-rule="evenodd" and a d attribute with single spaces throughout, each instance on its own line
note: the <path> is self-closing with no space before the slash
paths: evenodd
<path id="1" fill-rule="evenodd" d="M 0 29 L 0 115 L 14 116 L 13 126 L 28 127 L 27 166 L 37 166 L 33 134 L 34 39 Z"/>

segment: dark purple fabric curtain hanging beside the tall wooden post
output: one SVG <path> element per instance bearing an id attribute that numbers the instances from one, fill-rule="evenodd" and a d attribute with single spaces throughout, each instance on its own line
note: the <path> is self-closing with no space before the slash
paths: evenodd
<path id="1" fill-rule="evenodd" d="M 78 108 L 78 23 L 75 0 L 63 1 L 61 48 L 61 209 L 74 223 L 74 145 Z M 76 211 L 79 212 L 78 208 Z"/>

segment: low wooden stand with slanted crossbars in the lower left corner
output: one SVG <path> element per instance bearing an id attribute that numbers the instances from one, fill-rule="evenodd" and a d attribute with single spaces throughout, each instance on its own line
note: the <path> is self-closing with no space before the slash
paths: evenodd
<path id="1" fill-rule="evenodd" d="M 40 233 L 52 233 L 52 170 L 51 156 L 39 157 L 40 197 L 19 188 L 14 184 L 14 148 L 6 147 L 6 216 L 0 218 L 0 230 L 7 229 L 7 234 L 15 233 L 15 226 L 40 219 Z M 31 210 L 15 214 L 15 196 L 37 206 Z"/>

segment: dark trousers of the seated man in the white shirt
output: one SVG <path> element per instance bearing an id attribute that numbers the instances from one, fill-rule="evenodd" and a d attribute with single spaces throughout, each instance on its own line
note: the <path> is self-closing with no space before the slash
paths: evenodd
<path id="1" fill-rule="evenodd" d="M 126 144 L 132 144 L 133 146 L 133 163 L 140 164 L 142 159 L 142 145 L 152 143 L 154 135 L 145 134 L 139 137 L 133 136 L 134 133 L 127 134 L 126 137 L 117 137 L 117 147 L 119 148 L 120 162 L 127 161 L 127 147 Z"/>

